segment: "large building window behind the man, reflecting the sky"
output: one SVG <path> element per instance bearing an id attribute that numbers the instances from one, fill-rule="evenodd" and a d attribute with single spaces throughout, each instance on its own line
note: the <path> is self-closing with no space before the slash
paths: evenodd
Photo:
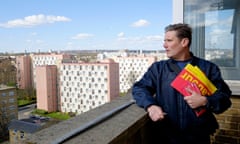
<path id="1" fill-rule="evenodd" d="M 220 66 L 225 79 L 239 80 L 240 1 L 183 1 L 183 21 L 193 28 L 193 53 Z"/>

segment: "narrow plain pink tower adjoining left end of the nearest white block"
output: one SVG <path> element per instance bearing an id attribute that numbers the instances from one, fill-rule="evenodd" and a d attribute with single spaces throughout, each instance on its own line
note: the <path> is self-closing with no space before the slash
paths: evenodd
<path id="1" fill-rule="evenodd" d="M 48 112 L 57 111 L 57 66 L 36 67 L 37 108 Z"/>

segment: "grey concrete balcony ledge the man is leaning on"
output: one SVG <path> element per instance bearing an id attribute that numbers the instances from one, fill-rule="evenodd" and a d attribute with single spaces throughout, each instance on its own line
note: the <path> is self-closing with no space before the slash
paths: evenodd
<path id="1" fill-rule="evenodd" d="M 125 104 L 131 100 L 131 95 L 119 97 L 113 100 L 111 103 L 104 104 L 96 109 L 90 110 L 79 116 L 71 118 L 70 120 L 60 122 L 49 128 L 43 129 L 32 135 L 31 138 L 26 140 L 29 144 L 50 144 L 55 140 L 63 137 L 67 133 L 73 131 L 77 127 L 81 127 L 86 123 L 97 119 L 100 115 L 103 115 L 112 109 Z M 70 140 L 65 141 L 66 144 L 81 143 L 81 144 L 99 144 L 110 143 L 124 131 L 127 131 L 134 125 L 134 129 L 142 127 L 141 119 L 146 119 L 146 112 L 140 109 L 137 105 L 133 104 L 126 109 L 113 115 L 111 118 L 104 120 L 103 122 L 95 125 L 93 128 L 72 137 Z M 138 123 L 137 123 L 138 122 Z"/>

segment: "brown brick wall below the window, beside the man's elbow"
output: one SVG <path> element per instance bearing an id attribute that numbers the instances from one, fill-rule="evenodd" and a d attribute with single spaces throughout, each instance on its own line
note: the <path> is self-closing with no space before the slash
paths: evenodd
<path id="1" fill-rule="evenodd" d="M 231 101 L 231 108 L 216 115 L 220 128 L 212 137 L 213 144 L 240 144 L 240 96 L 232 96 Z"/>

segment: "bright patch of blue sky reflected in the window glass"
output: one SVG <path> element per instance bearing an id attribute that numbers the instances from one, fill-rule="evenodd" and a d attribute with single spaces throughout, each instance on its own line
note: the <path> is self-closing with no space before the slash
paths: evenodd
<path id="1" fill-rule="evenodd" d="M 232 33 L 234 10 L 206 12 L 205 47 L 208 49 L 232 49 L 234 34 Z"/>

